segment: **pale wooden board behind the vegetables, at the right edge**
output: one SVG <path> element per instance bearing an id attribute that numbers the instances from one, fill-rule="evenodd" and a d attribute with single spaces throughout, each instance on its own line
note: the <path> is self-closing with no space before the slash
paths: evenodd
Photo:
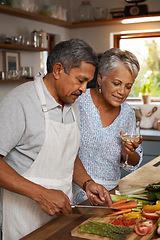
<path id="1" fill-rule="evenodd" d="M 119 182 L 119 191 L 160 182 L 160 156 L 128 174 Z"/>

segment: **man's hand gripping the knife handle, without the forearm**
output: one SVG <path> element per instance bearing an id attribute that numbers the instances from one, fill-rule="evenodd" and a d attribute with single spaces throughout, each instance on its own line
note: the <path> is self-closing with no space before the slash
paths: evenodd
<path id="1" fill-rule="evenodd" d="M 69 198 L 60 190 L 44 188 L 37 202 L 41 209 L 51 216 L 68 216 L 72 212 Z"/>

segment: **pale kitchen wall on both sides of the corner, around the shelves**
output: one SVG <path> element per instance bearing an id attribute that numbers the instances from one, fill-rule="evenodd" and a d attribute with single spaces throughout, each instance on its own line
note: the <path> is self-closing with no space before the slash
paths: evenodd
<path id="1" fill-rule="evenodd" d="M 160 11 L 160 0 L 147 0 L 144 4 L 149 6 L 149 11 Z M 42 1 L 40 1 L 42 3 Z M 52 0 L 52 4 L 61 4 L 63 8 L 68 9 L 68 13 L 71 13 L 71 6 L 74 9 L 74 13 L 77 14 L 80 0 Z M 113 7 L 122 7 L 127 4 L 124 0 L 91 0 L 94 7 L 101 6 L 108 9 Z M 77 10 L 76 10 L 77 9 Z M 76 17 L 76 16 L 74 16 Z M 108 16 L 111 17 L 111 16 Z M 18 18 L 0 13 L 0 33 L 4 33 L 7 36 L 13 35 L 27 35 L 30 34 L 34 29 L 41 30 L 48 33 L 55 34 L 56 42 L 61 40 L 67 40 L 69 38 L 82 38 L 95 49 L 97 53 L 102 53 L 106 49 L 112 47 L 112 34 L 121 31 L 142 31 L 142 30 L 153 30 L 157 29 L 160 31 L 160 23 L 143 23 L 143 24 L 117 24 L 117 25 L 106 25 L 96 27 L 86 27 L 77 29 L 67 29 L 63 27 L 53 26 L 51 24 L 40 23 L 32 20 Z M 2 54 L 0 54 L 2 59 Z M 34 75 L 41 70 L 39 65 L 40 54 L 33 52 L 23 52 L 21 54 L 21 66 L 33 66 Z M 2 61 L 0 61 L 0 71 L 2 71 Z M 11 89 L 19 85 L 20 83 L 0 83 L 0 99 L 3 98 Z"/>

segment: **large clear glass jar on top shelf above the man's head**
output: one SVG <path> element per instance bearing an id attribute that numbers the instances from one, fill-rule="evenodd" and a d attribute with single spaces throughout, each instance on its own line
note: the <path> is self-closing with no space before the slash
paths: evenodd
<path id="1" fill-rule="evenodd" d="M 82 1 L 79 6 L 80 21 L 93 20 L 93 8 L 90 1 Z"/>

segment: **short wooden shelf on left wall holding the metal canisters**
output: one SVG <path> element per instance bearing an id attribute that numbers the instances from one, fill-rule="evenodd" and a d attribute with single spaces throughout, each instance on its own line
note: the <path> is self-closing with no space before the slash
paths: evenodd
<path id="1" fill-rule="evenodd" d="M 13 43 L 0 43 L 0 49 L 33 51 L 33 52 L 48 51 L 48 48 L 32 47 L 32 46 L 18 45 Z"/>

